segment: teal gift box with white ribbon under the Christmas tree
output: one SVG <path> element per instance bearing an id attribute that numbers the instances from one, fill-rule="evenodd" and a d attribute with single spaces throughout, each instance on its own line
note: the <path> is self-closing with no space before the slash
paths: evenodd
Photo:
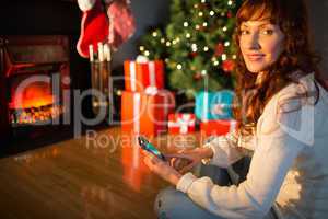
<path id="1" fill-rule="evenodd" d="M 213 119 L 231 119 L 234 92 L 199 92 L 196 95 L 195 114 L 202 122 Z"/>

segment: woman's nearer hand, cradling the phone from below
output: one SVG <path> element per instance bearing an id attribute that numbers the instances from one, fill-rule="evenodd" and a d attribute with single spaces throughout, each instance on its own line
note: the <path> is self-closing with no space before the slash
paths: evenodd
<path id="1" fill-rule="evenodd" d="M 142 151 L 142 153 L 144 154 L 144 163 L 152 172 L 156 173 L 163 180 L 174 185 L 176 185 L 179 182 L 181 174 L 177 172 L 174 168 L 169 166 L 168 162 L 159 159 L 150 152 Z"/>

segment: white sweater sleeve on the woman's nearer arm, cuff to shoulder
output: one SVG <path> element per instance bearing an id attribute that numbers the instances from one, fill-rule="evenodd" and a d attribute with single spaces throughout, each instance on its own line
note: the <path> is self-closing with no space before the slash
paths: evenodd
<path id="1" fill-rule="evenodd" d="M 294 103 L 286 104 L 293 107 Z M 198 205 L 224 218 L 262 218 L 270 210 L 294 159 L 305 146 L 302 139 L 290 135 L 301 123 L 301 114 L 309 115 L 307 107 L 291 113 L 277 111 L 278 101 L 271 100 L 257 124 L 257 145 L 246 181 L 238 186 L 214 185 L 211 178 L 196 178 L 185 174 L 177 189 Z"/>

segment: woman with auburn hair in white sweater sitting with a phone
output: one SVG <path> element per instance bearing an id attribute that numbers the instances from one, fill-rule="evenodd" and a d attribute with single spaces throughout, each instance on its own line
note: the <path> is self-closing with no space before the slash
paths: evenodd
<path id="1" fill-rule="evenodd" d="M 311 53 L 301 0 L 246 0 L 237 13 L 237 131 L 202 148 L 144 162 L 176 186 L 162 191 L 160 218 L 325 218 L 328 214 L 328 93 Z M 254 151 L 247 178 L 215 185 L 190 171 L 227 168 Z M 177 163 L 189 162 L 183 169 Z M 187 173 L 186 173 L 187 172 Z M 212 175 L 213 176 L 213 175 Z"/>

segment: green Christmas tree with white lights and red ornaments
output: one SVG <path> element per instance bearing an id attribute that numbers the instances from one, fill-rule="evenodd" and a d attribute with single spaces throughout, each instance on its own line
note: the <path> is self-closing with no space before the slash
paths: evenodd
<path id="1" fill-rule="evenodd" d="M 165 28 L 141 39 L 140 53 L 166 62 L 169 88 L 188 99 L 201 90 L 233 89 L 235 13 L 242 0 L 172 0 Z M 207 88 L 206 88 L 207 87 Z"/>

